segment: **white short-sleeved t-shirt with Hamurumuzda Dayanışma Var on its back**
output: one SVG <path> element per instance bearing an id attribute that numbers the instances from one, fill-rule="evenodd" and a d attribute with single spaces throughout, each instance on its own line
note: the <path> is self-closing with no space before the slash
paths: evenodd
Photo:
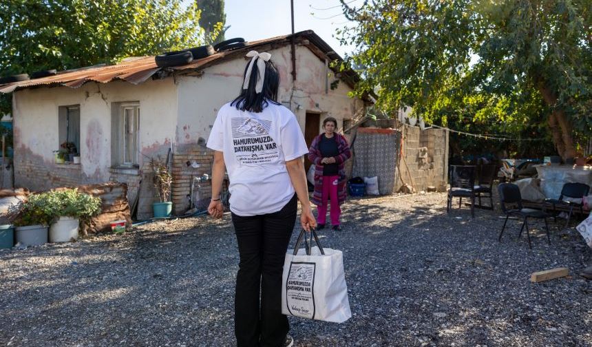
<path id="1" fill-rule="evenodd" d="M 281 210 L 294 196 L 286 161 L 308 154 L 296 117 L 268 102 L 260 113 L 222 106 L 208 148 L 224 152 L 236 215 L 262 215 Z"/>

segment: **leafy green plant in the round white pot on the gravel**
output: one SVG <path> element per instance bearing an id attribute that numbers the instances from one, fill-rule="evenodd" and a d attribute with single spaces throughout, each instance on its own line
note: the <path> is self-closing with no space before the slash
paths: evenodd
<path id="1" fill-rule="evenodd" d="M 50 242 L 68 242 L 78 240 L 81 224 L 88 224 L 92 216 L 101 212 L 101 198 L 96 198 L 78 189 L 46 191 L 41 198 L 52 206 L 49 214 Z"/>

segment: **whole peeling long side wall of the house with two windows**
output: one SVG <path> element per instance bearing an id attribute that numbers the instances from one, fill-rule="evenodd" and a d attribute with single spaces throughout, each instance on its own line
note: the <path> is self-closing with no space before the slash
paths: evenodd
<path id="1" fill-rule="evenodd" d="M 128 198 L 133 201 L 147 157 L 166 156 L 171 145 L 176 132 L 176 93 L 173 78 L 140 85 L 87 83 L 78 89 L 44 87 L 14 92 L 15 185 L 43 190 L 118 180 L 129 183 Z M 140 103 L 140 170 L 117 171 L 111 169 L 112 103 L 128 101 Z M 60 145 L 59 107 L 67 105 L 80 105 L 81 165 L 54 163 L 52 151 Z M 150 180 L 145 182 L 149 185 Z M 138 212 L 151 215 L 152 198 L 149 189 L 143 193 Z"/>

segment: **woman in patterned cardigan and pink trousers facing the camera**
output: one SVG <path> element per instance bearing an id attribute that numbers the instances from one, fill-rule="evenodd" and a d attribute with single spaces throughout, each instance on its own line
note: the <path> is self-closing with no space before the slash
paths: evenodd
<path id="1" fill-rule="evenodd" d="M 323 120 L 323 134 L 315 137 L 310 145 L 308 159 L 315 164 L 315 193 L 313 203 L 317 205 L 318 229 L 325 227 L 327 203 L 331 200 L 332 229 L 340 231 L 339 205 L 346 200 L 346 170 L 343 162 L 352 156 L 346 138 L 337 134 L 337 120 L 332 117 Z"/>

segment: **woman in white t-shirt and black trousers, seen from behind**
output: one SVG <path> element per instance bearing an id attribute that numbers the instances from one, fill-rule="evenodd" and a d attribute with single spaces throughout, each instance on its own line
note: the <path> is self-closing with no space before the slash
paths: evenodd
<path id="1" fill-rule="evenodd" d="M 207 147 L 214 150 L 213 218 L 222 218 L 220 191 L 229 174 L 230 210 L 240 255 L 235 291 L 238 347 L 292 346 L 282 315 L 282 268 L 296 222 L 317 226 L 308 201 L 302 156 L 308 153 L 296 117 L 277 103 L 279 74 L 271 54 L 251 51 L 240 95 L 220 108 Z M 261 298 L 261 299 L 260 299 Z"/>

